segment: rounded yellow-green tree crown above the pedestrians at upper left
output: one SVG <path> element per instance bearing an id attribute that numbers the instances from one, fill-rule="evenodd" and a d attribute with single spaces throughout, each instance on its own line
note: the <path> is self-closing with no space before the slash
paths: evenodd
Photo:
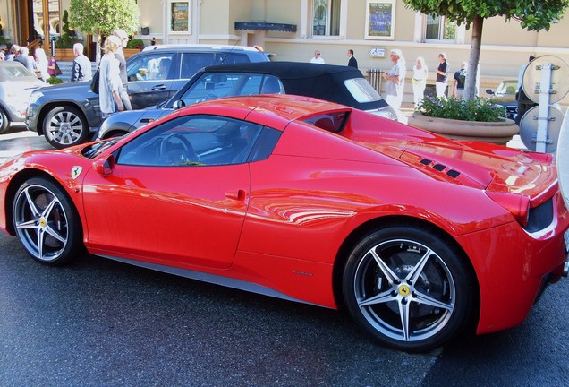
<path id="1" fill-rule="evenodd" d="M 69 12 L 72 26 L 90 35 L 110 35 L 115 30 L 132 34 L 139 28 L 135 0 L 71 0 Z"/>

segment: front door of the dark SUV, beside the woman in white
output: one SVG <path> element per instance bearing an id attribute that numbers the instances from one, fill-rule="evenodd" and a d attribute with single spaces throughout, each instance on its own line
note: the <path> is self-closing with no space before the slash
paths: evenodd
<path id="1" fill-rule="evenodd" d="M 129 60 L 126 75 L 133 109 L 155 106 L 173 95 L 178 57 L 172 52 L 152 51 Z"/>

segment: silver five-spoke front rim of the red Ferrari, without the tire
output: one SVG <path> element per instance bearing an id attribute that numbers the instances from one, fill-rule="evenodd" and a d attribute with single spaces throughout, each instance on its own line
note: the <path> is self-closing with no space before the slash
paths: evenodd
<path id="1" fill-rule="evenodd" d="M 29 185 L 16 198 L 16 233 L 26 250 L 42 262 L 55 261 L 68 242 L 67 214 L 45 186 Z"/>

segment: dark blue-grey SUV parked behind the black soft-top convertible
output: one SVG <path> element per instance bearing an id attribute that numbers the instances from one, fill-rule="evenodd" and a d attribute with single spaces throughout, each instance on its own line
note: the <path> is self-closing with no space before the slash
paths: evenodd
<path id="1" fill-rule="evenodd" d="M 158 73 L 162 60 L 171 63 L 166 79 Z M 268 57 L 253 47 L 152 47 L 127 60 L 132 108 L 154 106 L 169 99 L 191 75 L 206 65 L 264 61 L 268 61 Z M 101 122 L 98 94 L 89 90 L 89 82 L 64 83 L 37 90 L 31 95 L 26 115 L 28 129 L 45 135 L 47 142 L 58 149 L 88 141 Z"/>

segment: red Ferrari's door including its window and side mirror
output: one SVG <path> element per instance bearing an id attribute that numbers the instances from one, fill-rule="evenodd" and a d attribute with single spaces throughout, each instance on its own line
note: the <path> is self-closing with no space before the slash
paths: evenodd
<path id="1" fill-rule="evenodd" d="M 180 116 L 135 136 L 115 152 L 112 174 L 85 178 L 87 245 L 178 267 L 229 267 L 248 205 L 244 161 L 260 131 L 225 117 Z"/>

